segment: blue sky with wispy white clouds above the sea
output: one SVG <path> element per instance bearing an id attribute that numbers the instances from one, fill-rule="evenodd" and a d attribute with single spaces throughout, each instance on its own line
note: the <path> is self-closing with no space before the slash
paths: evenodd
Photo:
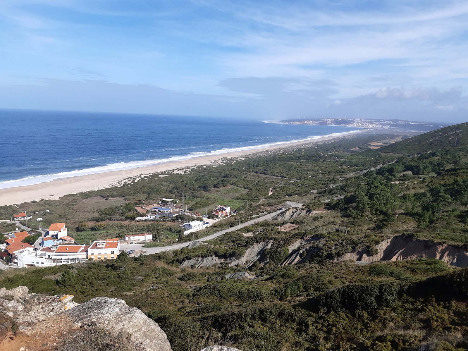
<path id="1" fill-rule="evenodd" d="M 0 0 L 0 108 L 468 120 L 468 1 Z"/>

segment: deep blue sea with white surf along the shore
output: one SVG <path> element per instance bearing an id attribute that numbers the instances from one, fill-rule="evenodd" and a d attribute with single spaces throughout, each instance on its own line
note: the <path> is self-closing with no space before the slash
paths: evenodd
<path id="1" fill-rule="evenodd" d="M 0 110 L 0 188 L 356 130 L 221 117 Z"/>

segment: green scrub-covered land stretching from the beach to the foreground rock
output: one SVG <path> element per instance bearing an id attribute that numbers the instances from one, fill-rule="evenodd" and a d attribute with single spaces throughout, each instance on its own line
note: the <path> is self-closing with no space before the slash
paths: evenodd
<path id="1" fill-rule="evenodd" d="M 76 240 L 147 231 L 169 244 L 191 238 L 176 232 L 175 221 L 121 220 L 132 214 L 131 201 L 152 204 L 184 192 L 193 208 L 235 205 L 236 215 L 195 239 L 285 201 L 304 204 L 190 249 L 9 270 L 0 273 L 0 285 L 73 294 L 80 303 L 122 299 L 157 322 L 174 351 L 213 344 L 243 351 L 466 349 L 466 128 L 373 150 L 369 142 L 397 135 L 311 143 L 57 201 L 4 206 L 5 217 L 49 209 L 44 221 L 63 219 Z M 351 151 L 356 148 L 364 151 Z M 100 226 L 75 231 L 80 223 Z"/>

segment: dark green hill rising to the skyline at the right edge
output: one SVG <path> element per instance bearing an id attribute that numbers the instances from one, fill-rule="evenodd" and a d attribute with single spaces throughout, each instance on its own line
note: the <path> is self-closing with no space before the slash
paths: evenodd
<path id="1" fill-rule="evenodd" d="M 420 152 L 468 146 L 468 122 L 450 125 L 432 132 L 384 146 L 380 152 L 417 154 Z"/>

